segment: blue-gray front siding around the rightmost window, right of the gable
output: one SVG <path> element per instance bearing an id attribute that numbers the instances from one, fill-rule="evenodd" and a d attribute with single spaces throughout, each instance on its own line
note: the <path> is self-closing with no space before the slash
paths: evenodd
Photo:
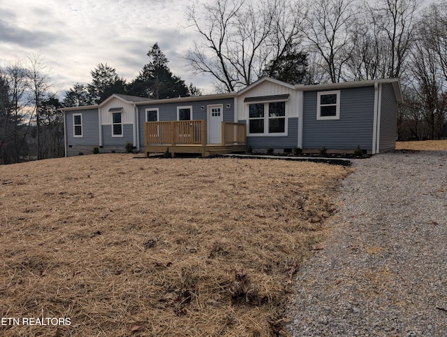
<path id="1" fill-rule="evenodd" d="M 302 148 L 372 150 L 374 86 L 340 90 L 339 120 L 316 120 L 317 92 L 304 93 Z"/>

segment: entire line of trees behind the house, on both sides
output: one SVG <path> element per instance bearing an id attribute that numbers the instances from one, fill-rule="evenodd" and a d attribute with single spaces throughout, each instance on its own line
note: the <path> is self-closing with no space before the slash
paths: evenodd
<path id="1" fill-rule="evenodd" d="M 212 0 L 186 10 L 197 38 L 184 52 L 215 92 L 263 76 L 291 84 L 400 78 L 398 138 L 446 136 L 447 0 Z M 108 64 L 59 101 L 39 55 L 0 67 L 0 164 L 64 155 L 61 106 L 97 104 L 111 94 L 153 99 L 194 96 L 155 43 L 127 82 Z"/>

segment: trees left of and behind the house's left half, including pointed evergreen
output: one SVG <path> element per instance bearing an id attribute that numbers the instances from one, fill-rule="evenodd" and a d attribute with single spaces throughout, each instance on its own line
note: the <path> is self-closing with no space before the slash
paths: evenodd
<path id="1" fill-rule="evenodd" d="M 155 43 L 149 62 L 134 80 L 126 80 L 108 64 L 91 71 L 91 83 L 76 83 L 59 101 L 50 67 L 41 55 L 0 67 L 0 164 L 64 156 L 64 120 L 58 110 L 95 105 L 112 94 L 152 99 L 200 94 L 192 83 L 175 76 L 168 59 Z"/>

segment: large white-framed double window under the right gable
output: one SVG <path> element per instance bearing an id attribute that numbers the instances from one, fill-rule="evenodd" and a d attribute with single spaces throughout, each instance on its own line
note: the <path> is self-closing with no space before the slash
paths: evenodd
<path id="1" fill-rule="evenodd" d="M 249 134 L 285 134 L 286 102 L 249 104 Z"/>

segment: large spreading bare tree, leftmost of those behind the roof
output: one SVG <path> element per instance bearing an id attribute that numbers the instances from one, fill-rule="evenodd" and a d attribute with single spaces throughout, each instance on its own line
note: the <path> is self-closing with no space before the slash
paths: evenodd
<path id="1" fill-rule="evenodd" d="M 189 7 L 189 22 L 200 36 L 186 53 L 189 68 L 210 74 L 226 92 L 253 83 L 270 60 L 300 40 L 302 8 L 291 0 L 214 0 Z"/>

